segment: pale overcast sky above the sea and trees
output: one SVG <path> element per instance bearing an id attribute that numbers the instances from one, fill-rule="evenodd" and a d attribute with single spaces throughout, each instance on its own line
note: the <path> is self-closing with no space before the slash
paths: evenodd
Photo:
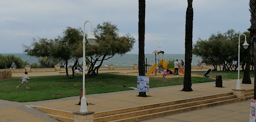
<path id="1" fill-rule="evenodd" d="M 110 21 L 119 35 L 136 39 L 129 54 L 138 53 L 138 1 L 136 0 L 0 0 L 0 53 L 23 53 L 33 38 L 54 39 L 69 26 L 83 28 Z M 147 0 L 145 53 L 185 53 L 187 0 Z M 249 0 L 194 0 L 193 44 L 228 29 L 250 27 Z M 85 32 L 90 32 L 86 23 Z M 81 40 L 82 41 L 82 40 Z M 160 47 L 159 47 L 160 45 Z"/>

